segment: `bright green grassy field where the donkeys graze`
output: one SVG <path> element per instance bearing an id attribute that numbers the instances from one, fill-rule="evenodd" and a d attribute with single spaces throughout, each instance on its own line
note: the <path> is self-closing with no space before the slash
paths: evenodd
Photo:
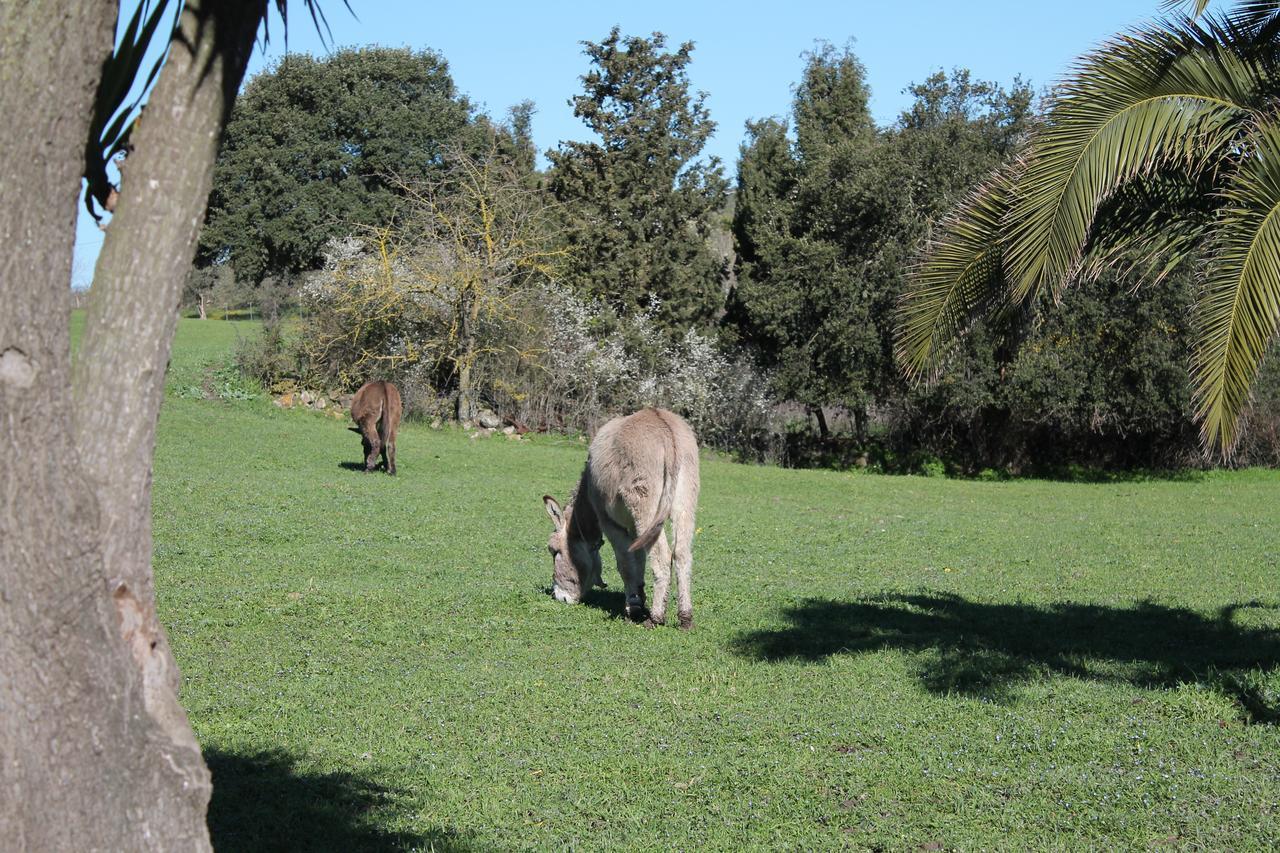
<path id="1" fill-rule="evenodd" d="M 1280 475 L 978 483 L 704 461 L 698 626 L 550 599 L 585 444 L 200 400 L 155 567 L 220 850 L 1275 849 Z"/>

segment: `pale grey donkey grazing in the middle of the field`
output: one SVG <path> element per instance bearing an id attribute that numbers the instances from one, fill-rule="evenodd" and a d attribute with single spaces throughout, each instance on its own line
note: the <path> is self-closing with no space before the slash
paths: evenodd
<path id="1" fill-rule="evenodd" d="M 626 590 L 626 615 L 645 611 L 644 566 L 653 551 L 653 610 L 645 625 L 667 619 L 667 592 L 676 569 L 681 628 L 694 625 L 692 544 L 698 510 L 698 439 L 678 415 L 644 409 L 614 418 L 596 433 L 577 489 L 561 508 L 543 497 L 556 525 L 547 543 L 554 561 L 552 593 L 577 603 L 590 587 L 603 587 L 600 546 L 608 537 Z M 671 519 L 672 544 L 663 524 Z M 675 555 L 675 558 L 672 558 Z"/>

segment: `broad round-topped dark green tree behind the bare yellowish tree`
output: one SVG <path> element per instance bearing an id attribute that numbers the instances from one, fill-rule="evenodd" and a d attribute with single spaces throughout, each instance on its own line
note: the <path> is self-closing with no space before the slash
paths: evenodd
<path id="1" fill-rule="evenodd" d="M 530 114 L 515 111 L 525 149 Z M 488 150 L 493 134 L 521 147 L 474 115 L 433 51 L 291 54 L 236 102 L 197 263 L 229 261 L 250 282 L 315 269 L 330 237 L 392 218 L 397 182 L 426 179 L 456 141 Z"/>

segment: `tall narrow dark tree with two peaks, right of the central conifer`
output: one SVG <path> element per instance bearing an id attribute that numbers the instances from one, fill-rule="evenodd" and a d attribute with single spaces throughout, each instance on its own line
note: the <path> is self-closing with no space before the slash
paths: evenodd
<path id="1" fill-rule="evenodd" d="M 777 391 L 803 402 L 827 433 L 826 406 L 865 409 L 863 366 L 874 348 L 856 270 L 832 227 L 831 179 L 864 172 L 878 134 L 865 69 L 847 47 L 806 55 L 796 87 L 796 140 L 777 119 L 748 124 L 733 233 L 737 286 L 728 324 L 773 370 Z"/>

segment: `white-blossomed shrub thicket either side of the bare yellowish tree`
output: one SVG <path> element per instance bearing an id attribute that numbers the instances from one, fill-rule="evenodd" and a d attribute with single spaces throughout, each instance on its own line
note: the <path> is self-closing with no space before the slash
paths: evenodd
<path id="1" fill-rule="evenodd" d="M 410 261 L 375 241 L 329 242 L 324 269 L 300 293 L 310 384 L 351 389 L 390 379 L 410 414 L 448 414 L 456 394 L 442 355 L 449 295 L 417 280 L 436 269 L 430 259 L 415 251 Z M 616 415 L 663 406 L 687 419 L 705 446 L 777 456 L 767 378 L 698 330 L 673 339 L 657 323 L 657 298 L 625 319 L 554 282 L 506 301 L 509 311 L 477 318 L 472 366 L 481 402 L 498 414 L 534 429 L 591 432 Z"/>

